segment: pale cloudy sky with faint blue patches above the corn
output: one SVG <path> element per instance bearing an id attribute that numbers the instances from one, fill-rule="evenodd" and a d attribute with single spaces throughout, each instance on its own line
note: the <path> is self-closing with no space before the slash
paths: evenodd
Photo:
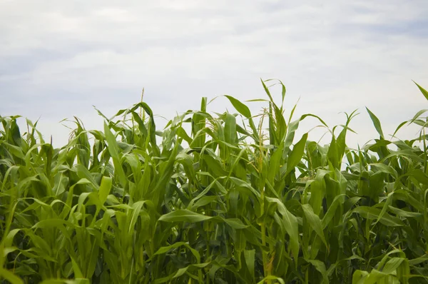
<path id="1" fill-rule="evenodd" d="M 277 78 L 286 116 L 298 101 L 295 118 L 314 113 L 334 126 L 358 109 L 349 143 L 362 145 L 377 138 L 365 107 L 387 136 L 427 108 L 412 82 L 428 88 L 427 14 L 427 0 L 0 0 L 0 116 L 39 119 L 62 146 L 64 118 L 102 129 L 93 106 L 111 116 L 142 88 L 163 126 L 203 96 L 267 98 L 260 78 Z M 253 113 L 263 107 L 250 103 Z M 208 106 L 225 110 L 222 97 Z"/>

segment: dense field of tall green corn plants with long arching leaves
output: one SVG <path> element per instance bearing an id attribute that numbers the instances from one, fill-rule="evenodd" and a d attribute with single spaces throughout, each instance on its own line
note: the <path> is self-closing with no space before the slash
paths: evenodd
<path id="1" fill-rule="evenodd" d="M 0 283 L 428 283 L 428 110 L 400 141 L 367 109 L 379 136 L 352 149 L 356 111 L 294 118 L 267 83 L 261 113 L 202 98 L 157 130 L 140 102 L 61 148 L 0 116 Z"/>

